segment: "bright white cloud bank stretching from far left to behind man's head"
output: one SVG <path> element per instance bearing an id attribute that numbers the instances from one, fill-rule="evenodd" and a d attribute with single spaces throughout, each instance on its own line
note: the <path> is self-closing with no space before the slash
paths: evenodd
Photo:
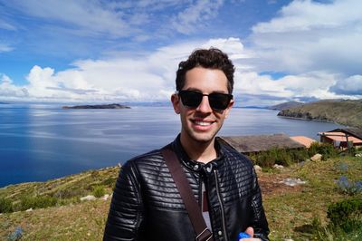
<path id="1" fill-rule="evenodd" d="M 53 101 L 166 101 L 175 90 L 179 62 L 197 47 L 218 47 L 243 54 L 239 39 L 214 39 L 168 45 L 137 57 L 80 60 L 74 68 L 56 72 L 33 66 L 24 88 L 32 100 Z M 134 55 L 133 55 L 134 56 Z"/>

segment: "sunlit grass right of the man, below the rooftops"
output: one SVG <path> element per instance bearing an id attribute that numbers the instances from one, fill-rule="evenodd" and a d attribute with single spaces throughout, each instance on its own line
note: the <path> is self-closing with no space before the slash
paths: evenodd
<path id="1" fill-rule="evenodd" d="M 347 170 L 338 169 L 345 163 Z M 340 175 L 361 179 L 362 159 L 336 158 L 309 161 L 302 167 L 292 167 L 290 175 L 302 178 L 307 184 L 297 191 L 264 197 L 264 208 L 271 227 L 271 240 L 311 240 L 319 236 L 312 232 L 313 218 L 327 226 L 327 209 L 332 202 L 348 198 L 336 184 Z M 362 198 L 362 194 L 357 195 Z M 335 239 L 338 240 L 338 239 Z"/>

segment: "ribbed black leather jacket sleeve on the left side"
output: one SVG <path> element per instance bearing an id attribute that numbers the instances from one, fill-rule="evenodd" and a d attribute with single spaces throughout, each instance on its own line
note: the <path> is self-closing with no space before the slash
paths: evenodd
<path id="1" fill-rule="evenodd" d="M 138 239 L 143 211 L 137 171 L 132 166 L 128 161 L 119 171 L 103 240 Z"/>

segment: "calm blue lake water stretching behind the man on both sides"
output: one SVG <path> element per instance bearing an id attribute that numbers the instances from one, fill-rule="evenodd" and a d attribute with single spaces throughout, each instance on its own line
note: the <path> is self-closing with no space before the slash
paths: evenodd
<path id="1" fill-rule="evenodd" d="M 319 131 L 341 127 L 277 113 L 234 108 L 219 135 L 285 133 L 318 139 Z M 60 105 L 0 104 L 0 187 L 124 163 L 166 145 L 179 130 L 171 106 L 62 110 Z"/>

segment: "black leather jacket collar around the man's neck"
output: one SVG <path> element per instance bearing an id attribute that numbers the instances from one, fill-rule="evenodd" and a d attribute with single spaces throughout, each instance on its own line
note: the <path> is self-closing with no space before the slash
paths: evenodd
<path id="1" fill-rule="evenodd" d="M 171 143 L 172 149 L 175 151 L 176 156 L 178 159 L 180 159 L 181 163 L 186 166 L 187 169 L 193 170 L 195 172 L 205 171 L 205 172 L 211 172 L 212 169 L 217 168 L 223 163 L 224 160 L 224 150 L 219 142 L 218 138 L 214 141 L 214 148 L 216 149 L 216 159 L 213 159 L 212 161 L 208 163 L 202 163 L 194 159 L 190 159 L 183 148 L 180 140 L 180 134 L 176 137 L 176 140 L 174 140 Z"/>

